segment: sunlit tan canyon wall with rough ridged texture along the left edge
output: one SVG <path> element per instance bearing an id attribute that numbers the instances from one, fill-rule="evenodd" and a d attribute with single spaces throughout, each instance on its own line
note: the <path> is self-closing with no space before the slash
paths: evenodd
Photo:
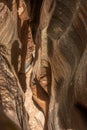
<path id="1" fill-rule="evenodd" d="M 7 1 L 0 2 L 0 129 L 29 130 L 24 93 L 12 64 L 11 49 L 19 38 L 17 7 L 11 4 L 10 9 Z"/>

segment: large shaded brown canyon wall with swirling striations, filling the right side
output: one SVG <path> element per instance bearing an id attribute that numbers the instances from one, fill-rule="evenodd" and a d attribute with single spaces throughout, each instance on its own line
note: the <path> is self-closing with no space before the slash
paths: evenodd
<path id="1" fill-rule="evenodd" d="M 45 103 L 49 106 L 49 130 L 87 129 L 86 12 L 85 0 L 43 0 L 33 68 L 38 85 L 33 91 L 37 88 L 34 100 L 43 111 Z M 44 73 L 47 80 L 41 82 Z M 39 95 L 38 86 L 42 93 L 45 91 L 45 99 Z M 50 94 L 46 91 L 49 88 Z"/>

